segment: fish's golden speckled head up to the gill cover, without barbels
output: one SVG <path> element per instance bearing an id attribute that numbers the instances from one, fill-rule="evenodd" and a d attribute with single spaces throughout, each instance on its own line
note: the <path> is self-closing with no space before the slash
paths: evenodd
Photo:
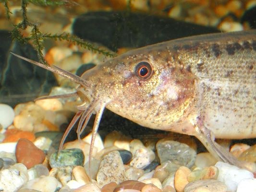
<path id="1" fill-rule="evenodd" d="M 194 107 L 195 76 L 161 46 L 128 51 L 81 78 L 91 84 L 89 100 L 145 127 L 167 128 Z"/>

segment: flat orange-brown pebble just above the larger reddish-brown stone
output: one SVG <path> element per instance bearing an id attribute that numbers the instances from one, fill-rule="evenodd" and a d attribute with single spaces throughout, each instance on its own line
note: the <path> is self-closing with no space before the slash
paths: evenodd
<path id="1" fill-rule="evenodd" d="M 19 129 L 8 129 L 5 132 L 3 143 L 17 142 L 20 138 L 28 139 L 32 142 L 36 139 L 33 132 L 22 131 Z"/>

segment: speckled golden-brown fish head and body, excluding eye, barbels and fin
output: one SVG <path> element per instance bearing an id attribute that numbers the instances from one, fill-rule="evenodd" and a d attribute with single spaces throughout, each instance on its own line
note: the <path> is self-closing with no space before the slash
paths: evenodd
<path id="1" fill-rule="evenodd" d="M 149 76 L 137 71 L 142 61 L 151 68 Z M 216 138 L 256 137 L 256 30 L 134 49 L 82 78 L 91 84 L 78 88 L 86 94 L 82 99 L 107 103 L 142 126 L 189 135 L 205 126 Z"/>

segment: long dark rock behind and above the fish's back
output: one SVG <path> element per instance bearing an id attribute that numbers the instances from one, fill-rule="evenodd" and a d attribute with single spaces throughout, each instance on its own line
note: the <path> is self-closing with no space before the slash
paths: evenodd
<path id="1" fill-rule="evenodd" d="M 216 32 L 219 31 L 213 27 L 134 12 L 88 12 L 78 16 L 73 23 L 74 35 L 114 51 Z"/>

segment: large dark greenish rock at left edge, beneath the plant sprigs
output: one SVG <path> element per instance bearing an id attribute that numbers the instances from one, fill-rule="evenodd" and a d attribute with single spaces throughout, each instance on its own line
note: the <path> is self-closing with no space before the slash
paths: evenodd
<path id="1" fill-rule="evenodd" d="M 40 95 L 48 95 L 51 87 L 57 85 L 54 75 L 9 52 L 38 61 L 32 46 L 12 42 L 8 31 L 0 31 L 0 42 L 0 103 L 13 107 Z"/>

